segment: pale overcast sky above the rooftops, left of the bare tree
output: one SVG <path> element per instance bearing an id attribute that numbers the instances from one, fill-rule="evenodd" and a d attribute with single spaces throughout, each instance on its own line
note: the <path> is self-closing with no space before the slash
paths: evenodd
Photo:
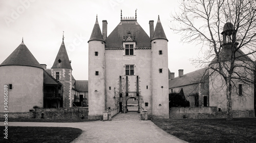
<path id="1" fill-rule="evenodd" d="M 195 45 L 180 43 L 180 36 L 170 27 L 170 14 L 179 10 L 178 1 L 0 1 L 0 63 L 22 42 L 40 64 L 51 68 L 65 35 L 65 45 L 72 61 L 73 76 L 76 80 L 88 80 L 88 40 L 98 14 L 102 31 L 102 20 L 108 21 L 108 35 L 120 22 L 120 10 L 123 17 L 135 16 L 137 21 L 150 35 L 148 21 L 158 15 L 168 42 L 168 67 L 178 76 L 178 69 L 184 74 L 200 69 L 191 64 L 189 59 L 200 56 Z"/>

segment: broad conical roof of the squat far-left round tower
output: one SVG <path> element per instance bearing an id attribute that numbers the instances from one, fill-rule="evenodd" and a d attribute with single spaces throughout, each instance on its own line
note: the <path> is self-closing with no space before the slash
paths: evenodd
<path id="1" fill-rule="evenodd" d="M 29 51 L 27 46 L 23 43 L 23 41 L 0 66 L 9 66 L 9 65 L 42 68 L 41 65 L 38 63 L 38 61 L 35 59 L 34 55 Z"/>

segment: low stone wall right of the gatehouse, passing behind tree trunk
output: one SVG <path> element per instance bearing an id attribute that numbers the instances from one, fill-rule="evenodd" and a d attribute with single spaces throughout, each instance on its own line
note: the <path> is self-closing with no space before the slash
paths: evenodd
<path id="1" fill-rule="evenodd" d="M 233 118 L 255 117 L 254 110 L 233 110 Z M 172 107 L 169 108 L 170 119 L 210 119 L 226 118 L 226 111 L 218 111 L 217 107 Z"/>

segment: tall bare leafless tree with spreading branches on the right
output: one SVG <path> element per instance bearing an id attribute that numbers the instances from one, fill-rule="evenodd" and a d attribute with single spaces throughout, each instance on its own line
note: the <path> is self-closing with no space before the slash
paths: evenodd
<path id="1" fill-rule="evenodd" d="M 232 120 L 232 89 L 237 82 L 254 83 L 256 0 L 185 0 L 180 10 L 172 15 L 172 29 L 182 42 L 202 45 L 204 56 L 193 62 L 208 67 L 209 80 L 221 76 Z"/>

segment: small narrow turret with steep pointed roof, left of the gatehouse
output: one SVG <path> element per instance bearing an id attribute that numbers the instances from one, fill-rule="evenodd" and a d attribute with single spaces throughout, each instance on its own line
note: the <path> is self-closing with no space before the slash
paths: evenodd
<path id="1" fill-rule="evenodd" d="M 62 84 L 63 107 L 72 106 L 72 67 L 64 44 L 64 36 L 52 66 L 52 76 Z"/>

